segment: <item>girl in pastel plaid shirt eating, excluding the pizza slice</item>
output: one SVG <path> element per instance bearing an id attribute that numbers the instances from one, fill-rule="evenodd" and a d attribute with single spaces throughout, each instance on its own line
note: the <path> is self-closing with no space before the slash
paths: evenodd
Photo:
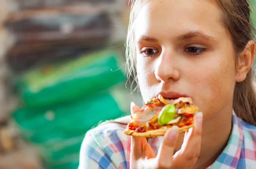
<path id="1" fill-rule="evenodd" d="M 87 132 L 80 169 L 253 169 L 256 93 L 253 27 L 246 0 L 134 0 L 130 70 L 146 102 L 189 96 L 202 113 L 186 134 L 134 138 L 125 125 Z M 140 108 L 131 104 L 131 113 Z M 129 117 L 118 119 L 129 122 Z"/>

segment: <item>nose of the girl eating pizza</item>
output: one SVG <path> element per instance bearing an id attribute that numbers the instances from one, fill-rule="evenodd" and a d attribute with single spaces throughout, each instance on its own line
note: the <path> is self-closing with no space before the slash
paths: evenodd
<path id="1" fill-rule="evenodd" d="M 178 63 L 172 52 L 163 51 L 157 58 L 154 73 L 157 80 L 163 83 L 180 79 Z"/>

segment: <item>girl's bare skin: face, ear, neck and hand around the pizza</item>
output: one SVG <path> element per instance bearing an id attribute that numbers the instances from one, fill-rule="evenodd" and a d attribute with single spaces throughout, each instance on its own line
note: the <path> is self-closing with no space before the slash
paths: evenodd
<path id="1" fill-rule="evenodd" d="M 175 128 L 167 132 L 157 156 L 145 138 L 131 137 L 131 169 L 205 169 L 226 146 L 234 87 L 252 66 L 255 43 L 248 42 L 236 70 L 233 42 L 221 17 L 212 0 L 148 0 L 140 7 L 134 34 L 144 101 L 160 92 L 186 94 L 204 118 L 201 125 L 202 114 L 195 116 L 185 138 Z M 138 110 L 131 105 L 132 113 Z"/>

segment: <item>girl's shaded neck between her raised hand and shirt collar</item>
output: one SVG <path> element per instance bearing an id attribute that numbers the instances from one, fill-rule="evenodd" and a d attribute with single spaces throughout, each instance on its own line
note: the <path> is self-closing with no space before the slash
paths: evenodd
<path id="1" fill-rule="evenodd" d="M 227 110 L 215 113 L 214 116 L 204 119 L 201 152 L 194 169 L 206 169 L 218 158 L 227 145 L 232 130 L 232 106 Z M 180 149 L 183 136 L 178 139 L 176 149 Z"/>

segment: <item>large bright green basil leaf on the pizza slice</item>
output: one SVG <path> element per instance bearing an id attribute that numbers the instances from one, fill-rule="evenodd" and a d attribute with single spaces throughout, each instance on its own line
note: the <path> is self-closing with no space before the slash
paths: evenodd
<path id="1" fill-rule="evenodd" d="M 168 104 L 158 115 L 158 124 L 165 125 L 168 124 L 168 122 L 172 121 L 172 119 L 175 116 L 175 106 L 173 104 Z"/>

